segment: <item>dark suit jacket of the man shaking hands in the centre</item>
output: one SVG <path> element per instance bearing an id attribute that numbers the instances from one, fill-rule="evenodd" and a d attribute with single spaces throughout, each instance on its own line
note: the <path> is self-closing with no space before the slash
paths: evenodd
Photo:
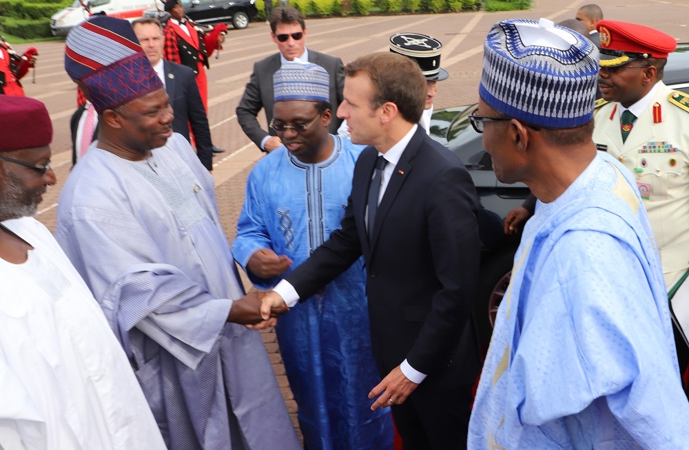
<path id="1" fill-rule="evenodd" d="M 473 321 L 479 203 L 471 177 L 418 127 L 380 201 L 369 242 L 364 213 L 377 156 L 368 147 L 356 163 L 341 229 L 285 279 L 307 299 L 363 255 L 380 375 L 407 358 L 428 375 L 426 387 L 471 383 L 480 364 Z"/>

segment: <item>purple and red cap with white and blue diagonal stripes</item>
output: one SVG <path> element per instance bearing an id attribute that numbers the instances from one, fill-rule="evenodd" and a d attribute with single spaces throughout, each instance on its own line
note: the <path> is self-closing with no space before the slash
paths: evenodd
<path id="1" fill-rule="evenodd" d="M 99 113 L 163 87 L 132 24 L 114 17 L 94 16 L 72 28 L 65 70 L 85 87 Z"/>

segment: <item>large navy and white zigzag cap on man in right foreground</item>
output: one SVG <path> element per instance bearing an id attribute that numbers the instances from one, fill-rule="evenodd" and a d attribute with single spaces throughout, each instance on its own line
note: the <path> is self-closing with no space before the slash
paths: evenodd
<path id="1" fill-rule="evenodd" d="M 586 37 L 547 19 L 500 21 L 484 42 L 479 94 L 531 125 L 579 127 L 593 119 L 598 58 Z"/>

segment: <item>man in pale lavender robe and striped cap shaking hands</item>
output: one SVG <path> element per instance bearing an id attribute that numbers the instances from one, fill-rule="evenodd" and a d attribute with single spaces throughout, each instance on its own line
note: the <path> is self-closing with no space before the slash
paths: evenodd
<path id="1" fill-rule="evenodd" d="M 242 325 L 260 321 L 260 299 L 244 296 L 214 180 L 172 132 L 132 25 L 81 23 L 65 69 L 101 130 L 62 190 L 56 238 L 130 357 L 168 448 L 298 449 L 263 339 Z"/>

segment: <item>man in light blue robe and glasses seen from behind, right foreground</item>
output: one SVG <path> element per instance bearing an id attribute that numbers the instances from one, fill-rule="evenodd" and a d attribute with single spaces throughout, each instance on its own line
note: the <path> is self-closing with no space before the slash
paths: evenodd
<path id="1" fill-rule="evenodd" d="M 497 313 L 470 449 L 687 447 L 648 215 L 633 175 L 591 138 L 597 71 L 595 45 L 547 19 L 498 22 L 484 42 L 469 120 L 497 179 L 526 183 L 538 203 Z"/>

